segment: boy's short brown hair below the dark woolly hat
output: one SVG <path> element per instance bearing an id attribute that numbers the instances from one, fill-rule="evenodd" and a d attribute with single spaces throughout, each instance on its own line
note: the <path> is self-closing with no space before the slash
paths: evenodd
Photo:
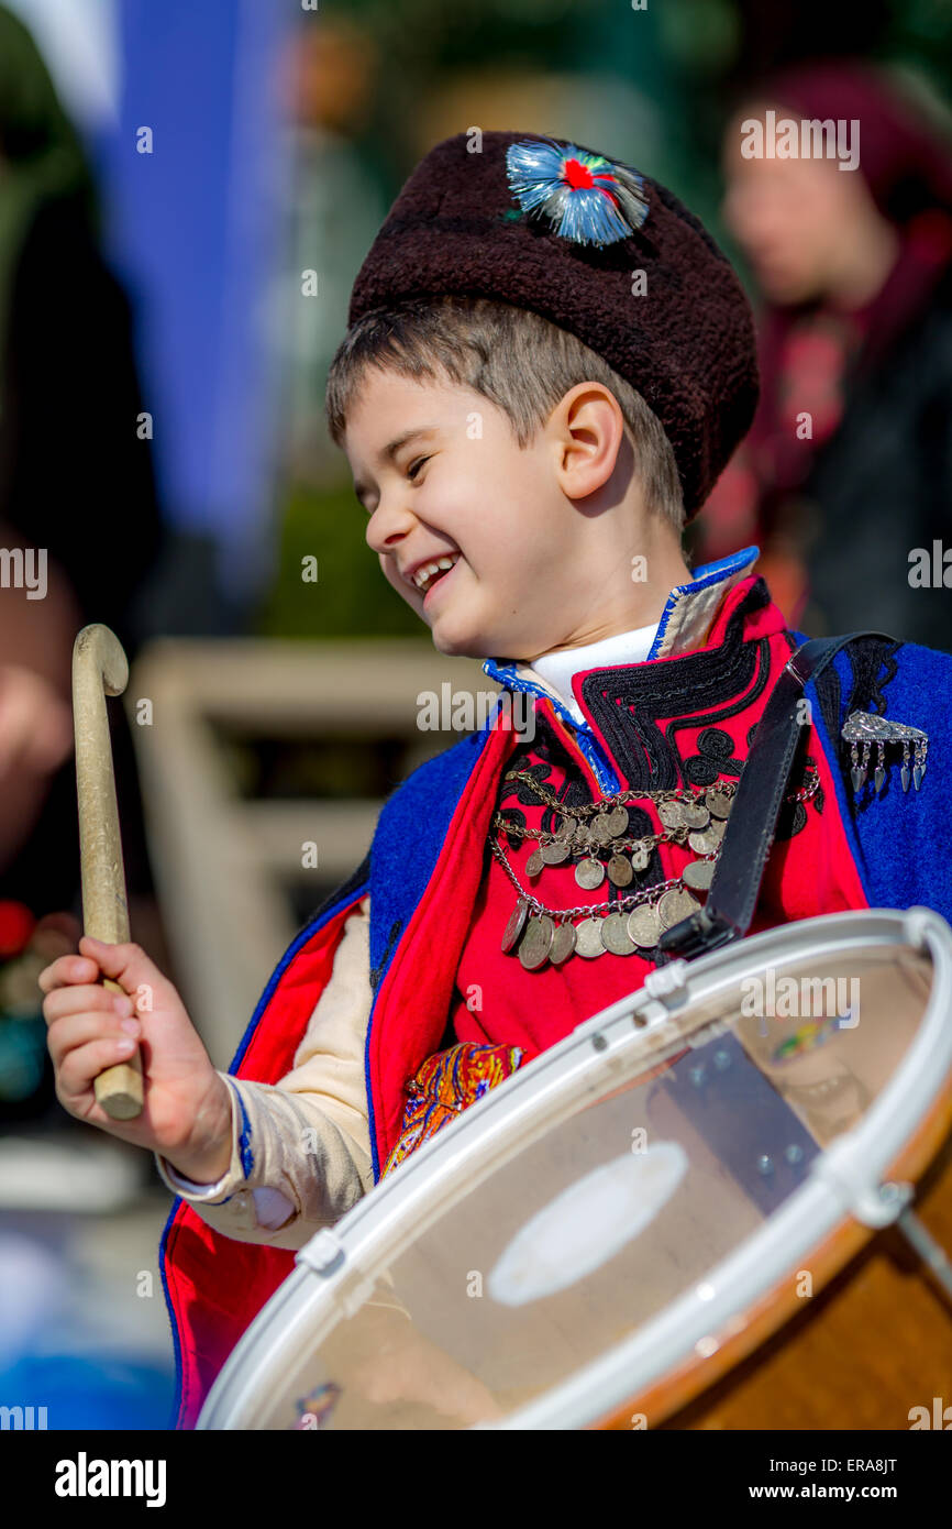
<path id="1" fill-rule="evenodd" d="M 526 448 L 576 382 L 614 393 L 640 477 L 645 508 L 680 534 L 685 503 L 665 428 L 630 382 L 597 352 L 530 309 L 483 297 L 403 298 L 365 313 L 348 329 L 330 364 L 327 425 L 339 446 L 367 367 L 436 378 L 481 393 L 509 417 Z"/>

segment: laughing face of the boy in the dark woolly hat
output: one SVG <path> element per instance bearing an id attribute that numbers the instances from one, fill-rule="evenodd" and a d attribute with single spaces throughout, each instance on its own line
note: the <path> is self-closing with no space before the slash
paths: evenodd
<path id="1" fill-rule="evenodd" d="M 564 492 L 555 430 L 521 451 L 481 393 L 370 367 L 344 450 L 367 544 L 442 653 L 532 659 L 585 630 L 604 570 L 585 566 L 584 503 Z M 452 570 L 417 589 L 413 570 L 442 557 Z"/>

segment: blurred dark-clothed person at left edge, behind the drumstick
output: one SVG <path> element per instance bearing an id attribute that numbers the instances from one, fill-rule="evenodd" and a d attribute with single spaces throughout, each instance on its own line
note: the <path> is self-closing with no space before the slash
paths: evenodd
<path id="1" fill-rule="evenodd" d="M 102 621 L 134 651 L 160 541 L 141 410 L 83 147 L 0 6 L 0 1121 L 53 1098 L 35 972 L 79 934 L 72 645 Z M 145 898 L 131 735 L 110 713 L 130 898 Z"/>

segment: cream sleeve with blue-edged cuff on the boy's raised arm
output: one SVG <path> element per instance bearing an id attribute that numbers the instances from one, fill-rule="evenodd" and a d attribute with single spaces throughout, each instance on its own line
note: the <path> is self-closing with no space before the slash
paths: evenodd
<path id="1" fill-rule="evenodd" d="M 344 924 L 327 986 L 277 1084 L 222 1073 L 232 1150 L 217 1183 L 196 1185 L 156 1154 L 164 1183 L 237 1242 L 303 1248 L 373 1188 L 364 1047 L 370 988 L 370 898 Z"/>

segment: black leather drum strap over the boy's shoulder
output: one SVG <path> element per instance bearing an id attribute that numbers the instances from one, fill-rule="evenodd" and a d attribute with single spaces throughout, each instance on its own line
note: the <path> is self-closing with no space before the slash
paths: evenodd
<path id="1" fill-rule="evenodd" d="M 856 638 L 895 641 L 885 631 L 850 631 L 845 638 L 813 638 L 790 654 L 750 742 L 708 901 L 703 908 L 665 930 L 659 940 L 659 965 L 678 956 L 694 960 L 741 939 L 750 928 L 802 735 L 798 703 L 808 680 L 818 679 L 840 648 Z"/>

